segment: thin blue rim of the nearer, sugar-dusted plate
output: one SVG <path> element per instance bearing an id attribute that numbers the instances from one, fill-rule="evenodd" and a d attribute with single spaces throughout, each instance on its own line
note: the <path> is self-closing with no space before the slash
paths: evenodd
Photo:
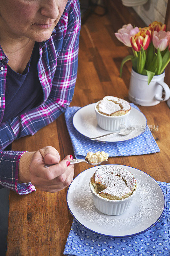
<path id="1" fill-rule="evenodd" d="M 103 164 L 103 165 L 107 165 L 107 164 Z M 100 165 L 100 166 L 103 166 L 103 165 Z M 112 165 L 123 165 L 123 166 L 127 166 L 127 167 L 134 168 L 134 167 L 132 167 L 132 166 L 124 165 L 124 164 L 112 164 Z M 94 168 L 94 166 L 93 166 L 93 167 L 90 167 L 90 168 L 88 168 L 88 169 L 86 169 L 86 170 L 89 170 L 89 169 L 91 169 L 91 168 Z M 140 171 L 140 172 L 143 172 L 143 171 L 139 170 L 138 168 L 134 168 L 134 169 L 136 169 L 136 170 L 138 170 L 138 171 Z M 86 170 L 84 170 L 84 171 L 86 171 Z M 84 172 L 84 171 L 82 171 L 82 172 Z M 80 172 L 77 176 L 79 176 L 82 172 Z M 150 177 L 152 178 L 152 176 L 149 175 L 148 173 L 146 173 L 146 172 L 144 172 L 144 173 L 147 174 L 148 176 L 150 176 Z M 77 177 L 77 176 L 76 176 L 76 177 Z M 76 178 L 76 177 L 75 177 L 75 178 Z M 74 179 L 75 179 L 75 178 L 74 178 Z M 152 178 L 152 179 L 153 179 L 153 178 Z M 153 180 L 155 180 L 155 179 L 153 179 Z M 156 180 L 155 180 L 155 181 L 156 181 Z M 156 183 L 159 185 L 159 183 L 158 183 L 157 181 L 156 181 Z M 70 185 L 71 185 L 71 184 L 70 184 Z M 70 186 L 69 186 L 69 187 L 70 187 Z M 68 187 L 68 189 L 67 189 L 67 195 L 68 195 L 69 187 Z M 159 187 L 160 187 L 160 185 L 159 185 Z M 160 188 L 161 188 L 161 187 L 160 187 Z M 162 190 L 162 188 L 161 188 L 161 190 Z M 67 207 L 68 207 L 68 210 L 69 210 L 69 212 L 72 214 L 72 216 L 74 217 L 74 219 L 75 219 L 81 226 L 83 226 L 84 228 L 88 229 L 89 231 L 91 231 L 91 232 L 93 232 L 93 233 L 95 233 L 95 234 L 101 235 L 101 236 L 108 236 L 108 237 L 131 237 L 131 236 L 136 236 L 136 235 L 139 235 L 139 234 L 142 234 L 142 233 L 148 231 L 149 229 L 153 228 L 153 227 L 156 225 L 156 223 L 161 219 L 162 215 L 163 215 L 164 212 L 165 212 L 165 207 L 166 207 L 166 199 L 165 199 L 165 195 L 164 195 L 163 190 L 162 190 L 162 193 L 163 193 L 163 196 L 164 196 L 164 209 L 163 209 L 161 215 L 159 216 L 158 220 L 156 220 L 150 227 L 146 228 L 145 230 L 142 230 L 141 232 L 138 232 L 138 233 L 135 233 L 135 234 L 131 234 L 131 235 L 125 235 L 125 236 L 110 236 L 110 235 L 105 235 L 105 234 L 95 232 L 94 230 L 91 230 L 90 228 L 85 227 L 84 225 L 81 224 L 80 221 L 78 221 L 78 220 L 75 218 L 74 214 L 72 213 L 72 211 L 71 211 L 71 209 L 70 209 L 70 207 L 69 207 L 69 205 L 68 205 L 68 196 L 67 196 L 67 195 L 66 195 L 66 199 L 67 199 Z"/>

